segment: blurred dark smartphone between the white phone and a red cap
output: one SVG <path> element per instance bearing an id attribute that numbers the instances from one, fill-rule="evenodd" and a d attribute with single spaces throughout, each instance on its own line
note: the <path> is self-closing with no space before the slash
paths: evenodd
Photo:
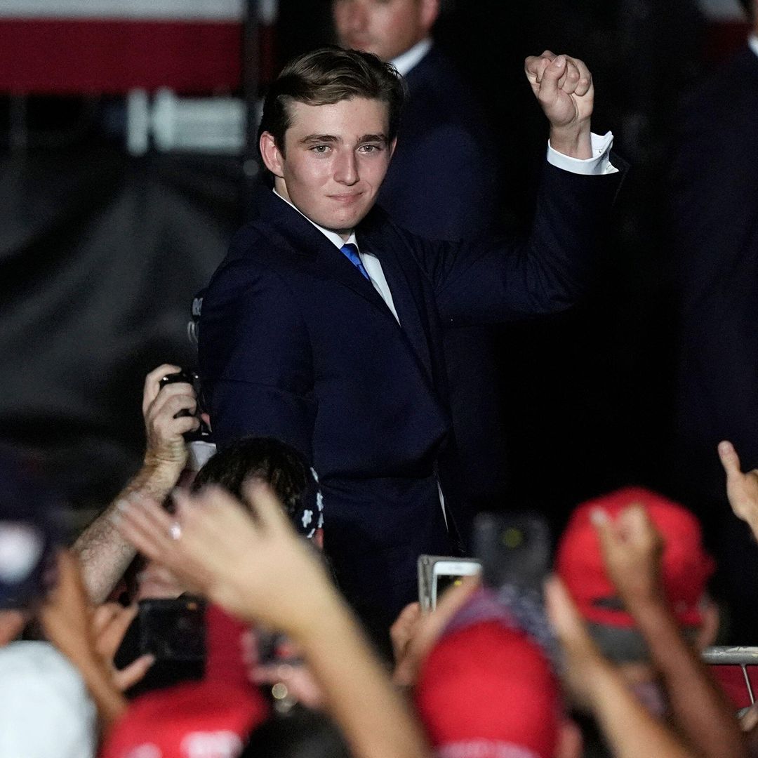
<path id="1" fill-rule="evenodd" d="M 484 584 L 515 584 L 541 594 L 550 572 L 550 528 L 544 518 L 534 512 L 480 513 L 473 543 Z"/>

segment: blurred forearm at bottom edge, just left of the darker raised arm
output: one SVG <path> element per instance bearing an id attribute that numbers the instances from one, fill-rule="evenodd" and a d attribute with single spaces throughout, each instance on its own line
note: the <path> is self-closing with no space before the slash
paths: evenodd
<path id="1" fill-rule="evenodd" d="M 593 713 L 616 758 L 694 758 L 695 753 L 647 712 L 608 662 L 598 664 L 591 681 Z"/>

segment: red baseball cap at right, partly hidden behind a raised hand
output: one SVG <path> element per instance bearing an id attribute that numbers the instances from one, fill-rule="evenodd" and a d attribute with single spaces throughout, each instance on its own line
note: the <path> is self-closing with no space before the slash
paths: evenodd
<path id="1" fill-rule="evenodd" d="M 623 609 L 606 575 L 600 541 L 590 521 L 594 509 L 601 508 L 615 518 L 633 505 L 644 506 L 663 538 L 663 586 L 678 622 L 700 625 L 700 600 L 716 568 L 703 548 L 700 523 L 684 506 L 644 487 L 625 487 L 578 506 L 559 540 L 556 572 L 587 621 L 634 627 L 634 619 Z"/>

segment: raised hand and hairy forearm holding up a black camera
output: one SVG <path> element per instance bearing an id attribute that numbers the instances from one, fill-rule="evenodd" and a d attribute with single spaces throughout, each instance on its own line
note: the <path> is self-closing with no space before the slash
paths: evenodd
<path id="1" fill-rule="evenodd" d="M 186 382 L 161 388 L 163 377 L 180 370 L 178 366 L 164 364 L 147 375 L 143 390 L 147 440 L 143 466 L 74 543 L 89 597 L 96 603 L 108 598 L 136 554 L 133 545 L 114 528 L 119 503 L 132 496 L 147 496 L 162 502 L 176 486 L 186 464 L 187 450 L 182 435 L 195 430 L 199 421 L 190 416 L 174 417 L 184 409 L 195 412 L 195 390 Z"/>

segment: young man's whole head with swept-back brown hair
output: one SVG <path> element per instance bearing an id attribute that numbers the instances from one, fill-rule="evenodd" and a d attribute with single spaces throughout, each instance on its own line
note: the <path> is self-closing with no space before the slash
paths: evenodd
<path id="1" fill-rule="evenodd" d="M 274 189 L 347 239 L 387 174 L 402 79 L 374 55 L 322 48 L 290 61 L 263 106 L 258 145 Z"/>

